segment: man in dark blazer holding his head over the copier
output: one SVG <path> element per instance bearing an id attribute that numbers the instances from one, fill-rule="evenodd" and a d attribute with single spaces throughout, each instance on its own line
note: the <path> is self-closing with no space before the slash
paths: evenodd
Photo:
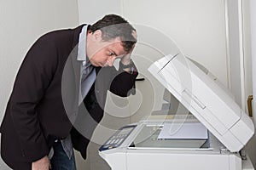
<path id="1" fill-rule="evenodd" d="M 40 37 L 20 66 L 3 117 L 3 161 L 21 170 L 76 169 L 73 148 L 86 158 L 107 91 L 125 97 L 135 82 L 136 42 L 135 29 L 115 14 Z"/>

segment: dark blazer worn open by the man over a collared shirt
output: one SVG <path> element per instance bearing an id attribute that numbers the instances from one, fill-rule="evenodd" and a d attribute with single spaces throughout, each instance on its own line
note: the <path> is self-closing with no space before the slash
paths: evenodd
<path id="1" fill-rule="evenodd" d="M 103 116 L 107 91 L 125 97 L 132 88 L 137 72 L 97 67 L 96 82 L 78 106 L 77 44 L 82 27 L 49 32 L 26 54 L 0 129 L 1 156 L 9 167 L 48 155 L 55 139 L 65 139 L 69 133 L 73 147 L 85 159 L 90 136 Z"/>

